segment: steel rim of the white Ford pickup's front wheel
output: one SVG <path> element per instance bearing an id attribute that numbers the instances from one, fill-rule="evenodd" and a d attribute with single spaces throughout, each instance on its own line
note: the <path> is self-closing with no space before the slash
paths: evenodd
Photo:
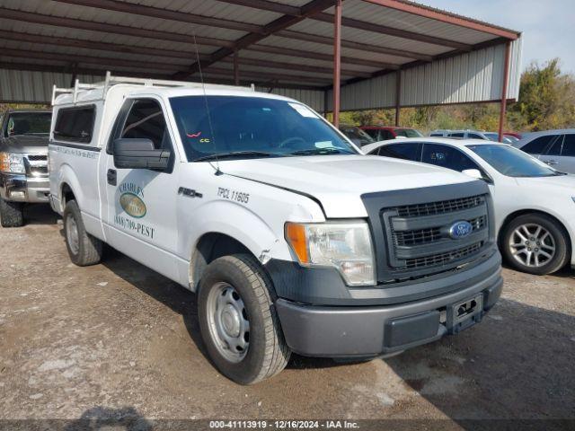
<path id="1" fill-rule="evenodd" d="M 238 363 L 250 346 L 250 321 L 234 286 L 217 283 L 208 294 L 208 328 L 220 355 Z"/>

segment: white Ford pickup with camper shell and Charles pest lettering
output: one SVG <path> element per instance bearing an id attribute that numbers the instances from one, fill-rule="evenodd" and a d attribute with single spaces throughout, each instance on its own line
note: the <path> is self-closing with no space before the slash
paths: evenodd
<path id="1" fill-rule="evenodd" d="M 208 355 L 237 383 L 292 351 L 390 356 L 500 297 L 483 181 L 360 154 L 298 101 L 108 75 L 55 88 L 53 105 L 70 259 L 95 264 L 106 242 L 195 292 Z"/>

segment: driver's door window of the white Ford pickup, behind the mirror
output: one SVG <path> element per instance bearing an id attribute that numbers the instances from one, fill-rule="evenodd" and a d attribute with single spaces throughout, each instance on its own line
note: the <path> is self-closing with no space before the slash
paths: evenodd
<path id="1" fill-rule="evenodd" d="M 164 112 L 160 104 L 154 99 L 134 101 L 119 137 L 150 139 L 156 150 L 172 147 L 170 134 L 165 124 Z"/>

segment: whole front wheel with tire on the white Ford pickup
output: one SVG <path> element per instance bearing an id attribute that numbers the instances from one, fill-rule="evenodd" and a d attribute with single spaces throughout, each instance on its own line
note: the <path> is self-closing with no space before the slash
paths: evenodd
<path id="1" fill-rule="evenodd" d="M 217 369 L 236 383 L 278 374 L 291 354 L 270 277 L 246 254 L 215 259 L 199 282 L 199 329 Z"/>

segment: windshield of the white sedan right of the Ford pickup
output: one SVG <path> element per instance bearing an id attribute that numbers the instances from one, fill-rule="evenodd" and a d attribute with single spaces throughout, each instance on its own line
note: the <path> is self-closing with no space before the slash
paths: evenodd
<path id="1" fill-rule="evenodd" d="M 545 166 L 543 162 L 509 145 L 467 145 L 467 148 L 479 155 L 485 162 L 491 164 L 498 172 L 508 177 L 552 177 L 562 175 L 561 172 Z"/>

